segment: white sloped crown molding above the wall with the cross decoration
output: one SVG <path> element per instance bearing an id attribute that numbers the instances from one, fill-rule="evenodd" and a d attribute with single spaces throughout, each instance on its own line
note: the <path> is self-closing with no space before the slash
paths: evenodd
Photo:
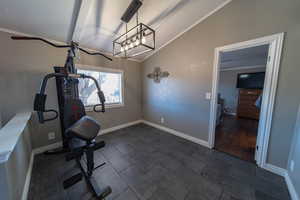
<path id="1" fill-rule="evenodd" d="M 177 38 L 179 38 L 180 36 L 182 36 L 184 33 L 188 32 L 189 30 L 191 30 L 192 28 L 194 28 L 195 26 L 197 26 L 198 24 L 200 24 L 202 21 L 204 21 L 209 16 L 211 16 L 214 13 L 216 13 L 217 11 L 219 11 L 221 8 L 223 8 L 224 6 L 226 6 L 231 1 L 232 0 L 227 0 L 227 1 L 223 2 L 222 4 L 220 4 L 217 8 L 215 8 L 214 10 L 212 10 L 211 12 L 209 12 L 208 14 L 204 15 L 203 17 L 201 17 L 194 24 L 192 24 L 191 26 L 187 27 L 185 30 L 183 30 L 182 32 L 180 32 L 179 34 L 177 34 L 171 40 L 167 41 L 165 44 L 163 44 L 162 46 L 160 46 L 159 48 L 157 48 L 155 51 L 152 51 L 145 58 L 143 58 L 141 62 L 146 61 L 148 58 L 150 58 L 151 56 L 153 56 L 155 53 L 157 53 L 158 51 L 160 51 L 161 49 L 163 49 L 164 47 L 166 47 L 168 44 L 172 43 L 174 40 L 176 40 Z"/>

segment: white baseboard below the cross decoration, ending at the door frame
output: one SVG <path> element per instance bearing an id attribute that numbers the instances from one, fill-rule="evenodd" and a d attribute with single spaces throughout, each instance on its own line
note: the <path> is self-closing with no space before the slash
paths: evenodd
<path id="1" fill-rule="evenodd" d="M 174 130 L 174 129 L 167 128 L 167 127 L 165 127 L 165 126 L 161 126 L 161 125 L 159 125 L 159 124 L 155 124 L 155 123 L 152 123 L 152 122 L 149 122 L 149 121 L 146 121 L 146 120 L 142 120 L 142 122 L 143 122 L 144 124 L 147 124 L 147 125 L 152 126 L 152 127 L 154 127 L 154 128 L 158 128 L 158 129 L 160 129 L 160 130 L 166 131 L 166 132 L 171 133 L 171 134 L 173 134 L 173 135 L 176 135 L 176 136 L 178 136 L 178 137 L 184 138 L 184 139 L 189 140 L 189 141 L 191 141 L 191 142 L 194 142 L 194 143 L 200 144 L 200 145 L 202 145 L 202 146 L 205 146 L 205 147 L 207 147 L 207 148 L 210 148 L 207 141 L 204 141 L 204 140 L 195 138 L 195 137 L 190 136 L 190 135 L 187 135 L 187 134 L 185 134 L 185 133 L 182 133 L 182 132 L 176 131 L 176 130 Z"/>

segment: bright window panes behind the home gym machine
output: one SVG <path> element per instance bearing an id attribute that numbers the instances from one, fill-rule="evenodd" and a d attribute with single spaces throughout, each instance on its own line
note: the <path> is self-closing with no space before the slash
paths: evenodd
<path id="1" fill-rule="evenodd" d="M 123 72 L 108 70 L 108 69 L 77 69 L 78 73 L 86 74 L 94 77 L 101 87 L 105 96 L 105 104 L 108 107 L 122 106 L 123 105 Z M 84 106 L 92 107 L 99 104 L 99 97 L 97 88 L 93 80 L 79 79 L 78 84 L 79 98 Z"/>

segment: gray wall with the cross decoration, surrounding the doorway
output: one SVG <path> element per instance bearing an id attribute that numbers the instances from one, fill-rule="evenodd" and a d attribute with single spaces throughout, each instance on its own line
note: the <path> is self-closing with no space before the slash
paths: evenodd
<path id="1" fill-rule="evenodd" d="M 299 0 L 233 0 L 143 62 L 144 118 L 202 140 L 208 139 L 214 49 L 286 32 L 268 162 L 286 168 L 300 100 Z M 160 66 L 170 76 L 160 84 L 146 78 Z"/>

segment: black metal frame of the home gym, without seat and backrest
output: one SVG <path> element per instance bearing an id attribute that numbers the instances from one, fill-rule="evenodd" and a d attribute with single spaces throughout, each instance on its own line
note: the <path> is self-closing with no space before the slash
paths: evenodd
<path id="1" fill-rule="evenodd" d="M 40 123 L 45 123 L 45 122 L 57 119 L 59 116 L 59 113 L 61 114 L 60 117 L 63 117 L 64 105 L 62 105 L 62 104 L 64 104 L 64 101 L 65 101 L 65 97 L 63 96 L 64 93 L 68 93 L 68 95 L 70 95 L 70 98 L 79 99 L 78 85 L 77 85 L 78 79 L 90 79 L 94 82 L 94 84 L 96 85 L 96 88 L 98 90 L 97 93 L 98 93 L 98 97 L 100 100 L 100 104 L 94 105 L 93 110 L 95 112 L 105 112 L 105 97 L 104 97 L 103 92 L 101 91 L 101 88 L 100 88 L 97 80 L 92 76 L 88 76 L 85 74 L 78 74 L 77 70 L 75 68 L 75 65 L 74 65 L 74 58 L 76 57 L 76 53 L 78 51 L 82 51 L 83 53 L 86 53 L 88 55 L 100 55 L 100 56 L 103 56 L 104 58 L 112 61 L 111 58 L 109 58 L 108 56 L 106 56 L 102 53 L 99 53 L 99 52 L 93 53 L 93 52 L 89 52 L 85 49 L 82 49 L 75 42 L 71 42 L 70 45 L 58 45 L 58 44 L 54 44 L 48 40 L 45 40 L 45 39 L 39 38 L 39 37 L 12 36 L 11 38 L 13 40 L 39 40 L 48 45 L 56 47 L 56 48 L 68 48 L 69 49 L 64 67 L 62 67 L 62 68 L 54 67 L 55 73 L 47 74 L 43 78 L 43 81 L 42 81 L 41 87 L 40 87 L 40 91 L 39 91 L 39 93 L 37 93 L 35 95 L 34 110 L 38 114 L 38 119 L 39 119 Z M 47 95 L 46 95 L 45 91 L 46 91 L 46 86 L 47 86 L 48 80 L 50 80 L 52 78 L 56 78 L 57 89 L 58 89 L 57 91 L 58 91 L 58 100 L 59 100 L 59 110 L 60 110 L 59 112 L 54 109 L 46 109 Z M 58 87 L 59 85 L 62 87 Z M 66 86 L 66 88 L 63 88 L 63 86 Z M 67 91 L 64 89 L 67 89 Z M 101 109 L 98 108 L 99 106 L 101 106 Z M 45 114 L 50 114 L 50 113 L 52 113 L 51 115 L 53 115 L 53 116 L 47 117 L 47 118 L 44 116 Z M 106 196 L 108 196 L 112 192 L 112 190 L 109 186 L 105 187 L 102 190 L 99 190 L 97 187 L 95 187 L 96 184 L 92 177 L 92 174 L 95 169 L 105 165 L 105 163 L 102 163 L 99 166 L 97 166 L 96 168 L 94 168 L 94 151 L 104 147 L 105 143 L 103 141 L 100 143 L 96 143 L 95 140 L 92 140 L 92 141 L 87 141 L 87 144 L 84 145 L 83 147 L 80 147 L 78 149 L 70 149 L 68 137 L 66 137 L 66 135 L 65 135 L 66 128 L 68 128 L 68 127 L 64 127 L 64 125 L 62 123 L 63 118 L 61 118 L 60 120 L 61 120 L 60 122 L 61 122 L 61 127 L 62 127 L 63 146 L 61 149 L 58 149 L 58 150 L 56 149 L 53 152 L 49 151 L 49 152 L 46 152 L 46 154 L 57 154 L 57 153 L 69 152 L 66 156 L 66 160 L 69 161 L 69 160 L 75 159 L 76 163 L 79 166 L 80 171 L 81 171 L 81 173 L 78 173 L 77 175 L 72 176 L 71 178 L 65 180 L 63 183 L 64 188 L 71 187 L 74 184 L 76 184 L 77 182 L 81 181 L 82 176 L 83 176 L 85 178 L 88 188 L 92 192 L 93 196 L 95 196 L 97 199 L 104 199 Z M 84 167 L 81 164 L 82 157 L 84 155 L 86 157 L 86 170 L 84 169 Z"/>

